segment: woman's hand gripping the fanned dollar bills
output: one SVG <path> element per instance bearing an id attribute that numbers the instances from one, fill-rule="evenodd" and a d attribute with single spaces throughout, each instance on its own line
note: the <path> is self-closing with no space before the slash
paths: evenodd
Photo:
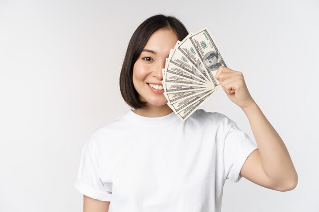
<path id="1" fill-rule="evenodd" d="M 242 109 L 254 104 L 242 72 L 220 66 L 215 78 L 220 81 L 228 98 Z"/>

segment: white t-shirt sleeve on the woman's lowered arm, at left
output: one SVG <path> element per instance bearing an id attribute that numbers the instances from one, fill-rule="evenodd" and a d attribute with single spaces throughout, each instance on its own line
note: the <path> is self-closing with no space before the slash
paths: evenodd
<path id="1" fill-rule="evenodd" d="M 101 201 L 111 201 L 111 192 L 105 189 L 98 165 L 98 155 L 92 137 L 82 148 L 81 162 L 74 188 L 80 193 Z"/>

